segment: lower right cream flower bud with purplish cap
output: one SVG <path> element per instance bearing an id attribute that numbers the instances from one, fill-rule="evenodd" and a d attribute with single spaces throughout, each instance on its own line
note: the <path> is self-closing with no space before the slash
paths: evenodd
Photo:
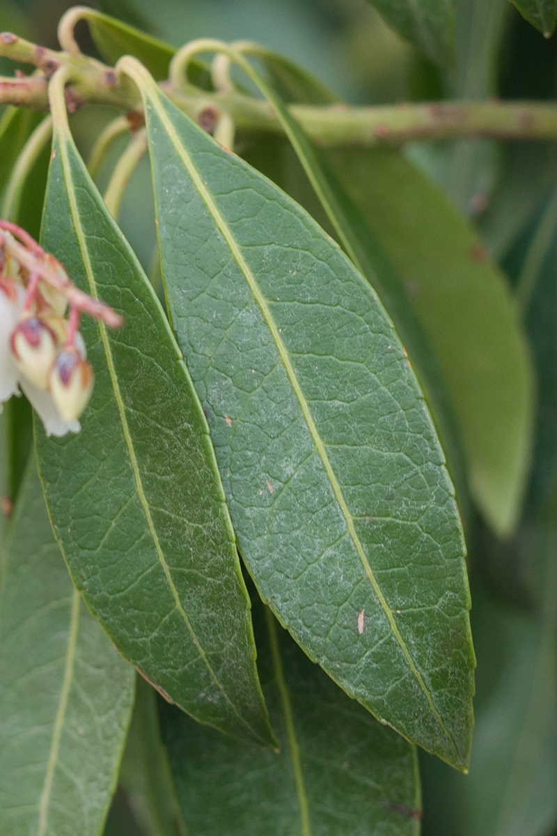
<path id="1" fill-rule="evenodd" d="M 49 377 L 50 393 L 64 421 L 75 421 L 89 403 L 93 391 L 93 368 L 78 349 L 60 351 Z"/>

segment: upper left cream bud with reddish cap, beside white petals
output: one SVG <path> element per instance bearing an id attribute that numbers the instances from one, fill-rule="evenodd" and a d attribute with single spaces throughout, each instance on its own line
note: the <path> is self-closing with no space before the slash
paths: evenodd
<path id="1" fill-rule="evenodd" d="M 38 317 L 23 319 L 11 339 L 19 371 L 39 389 L 48 389 L 48 372 L 56 359 L 56 337 Z"/>

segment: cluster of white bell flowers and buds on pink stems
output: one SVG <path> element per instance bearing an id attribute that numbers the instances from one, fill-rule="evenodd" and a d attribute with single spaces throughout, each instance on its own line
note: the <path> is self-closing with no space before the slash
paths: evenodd
<path id="1" fill-rule="evenodd" d="M 22 390 L 49 436 L 78 432 L 93 390 L 78 330 L 88 299 L 28 233 L 0 222 L 0 409 Z"/>

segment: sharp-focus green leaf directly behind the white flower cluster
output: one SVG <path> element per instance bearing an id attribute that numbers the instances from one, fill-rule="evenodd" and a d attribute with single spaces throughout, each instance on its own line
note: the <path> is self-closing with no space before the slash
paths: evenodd
<path id="1" fill-rule="evenodd" d="M 83 430 L 38 434 L 55 532 L 126 659 L 196 719 L 272 742 L 203 410 L 158 299 L 58 125 L 44 246 L 125 323 L 109 333 L 84 320 L 96 384 Z"/>

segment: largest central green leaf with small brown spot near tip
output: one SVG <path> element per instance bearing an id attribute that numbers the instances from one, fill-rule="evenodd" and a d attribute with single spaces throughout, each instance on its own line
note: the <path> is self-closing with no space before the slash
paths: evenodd
<path id="1" fill-rule="evenodd" d="M 144 93 L 171 316 L 259 592 L 348 693 L 462 768 L 463 540 L 392 324 L 300 206 L 123 66 Z"/>

